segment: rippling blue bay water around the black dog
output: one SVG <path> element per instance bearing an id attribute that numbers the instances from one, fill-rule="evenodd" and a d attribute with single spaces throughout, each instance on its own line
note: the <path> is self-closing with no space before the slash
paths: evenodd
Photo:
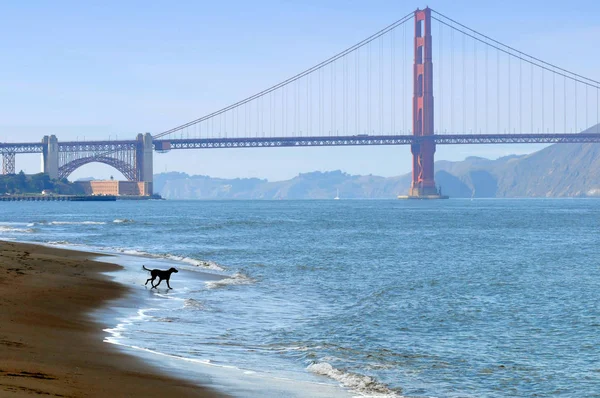
<path id="1" fill-rule="evenodd" d="M 1 239 L 120 254 L 108 342 L 238 396 L 600 396 L 599 222 L 600 200 L 0 205 Z"/>

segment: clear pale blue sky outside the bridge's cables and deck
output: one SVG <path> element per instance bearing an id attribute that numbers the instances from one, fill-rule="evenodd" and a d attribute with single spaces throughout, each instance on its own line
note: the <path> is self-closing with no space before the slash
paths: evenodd
<path id="1" fill-rule="evenodd" d="M 133 138 L 236 102 L 417 7 L 409 1 L 32 1 L 0 4 L 0 141 Z M 595 1 L 429 1 L 546 61 L 600 80 Z M 588 54 L 587 52 L 590 52 Z M 538 146 L 446 146 L 436 159 L 496 158 Z M 17 168 L 39 171 L 39 156 Z M 407 147 L 171 151 L 155 172 L 285 179 L 341 169 L 410 171 Z M 120 174 L 91 164 L 71 178 Z"/>

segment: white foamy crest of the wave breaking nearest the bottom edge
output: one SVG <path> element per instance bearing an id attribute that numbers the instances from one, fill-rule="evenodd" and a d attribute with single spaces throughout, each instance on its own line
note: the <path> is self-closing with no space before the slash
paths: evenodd
<path id="1" fill-rule="evenodd" d="M 327 362 L 312 363 L 306 368 L 308 371 L 327 376 L 339 382 L 342 386 L 350 388 L 362 396 L 369 397 L 400 397 L 396 392 L 390 390 L 385 385 L 377 382 L 372 377 L 363 376 L 356 373 L 344 372 L 336 369 Z"/>

